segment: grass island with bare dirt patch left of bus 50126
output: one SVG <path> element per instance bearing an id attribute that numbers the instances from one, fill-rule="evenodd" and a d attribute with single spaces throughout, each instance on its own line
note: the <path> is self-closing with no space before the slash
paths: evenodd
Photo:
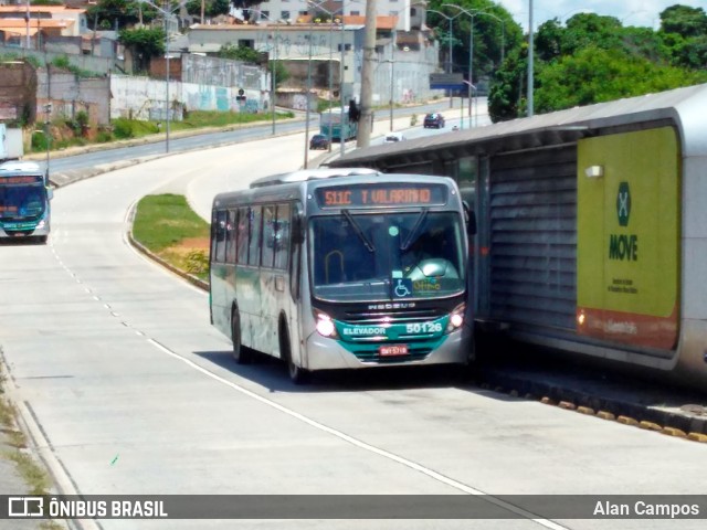
<path id="1" fill-rule="evenodd" d="M 183 195 L 144 197 L 133 220 L 133 237 L 176 268 L 209 278 L 209 223 Z"/>

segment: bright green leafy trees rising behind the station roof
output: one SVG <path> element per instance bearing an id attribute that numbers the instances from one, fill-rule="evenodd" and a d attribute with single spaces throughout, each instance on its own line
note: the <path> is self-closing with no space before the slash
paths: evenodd
<path id="1" fill-rule="evenodd" d="M 594 13 L 576 14 L 564 26 L 558 19 L 541 24 L 535 40 L 535 112 L 707 82 L 704 10 L 673 6 L 661 17 L 658 32 L 623 28 L 618 19 Z M 488 99 L 493 120 L 526 114 L 527 68 L 525 43 L 496 72 Z"/>

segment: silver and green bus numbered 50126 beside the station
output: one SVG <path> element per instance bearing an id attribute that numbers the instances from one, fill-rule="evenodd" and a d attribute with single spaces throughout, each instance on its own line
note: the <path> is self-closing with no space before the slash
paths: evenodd
<path id="1" fill-rule="evenodd" d="M 213 201 L 211 322 L 233 356 L 317 370 L 473 356 L 467 213 L 446 177 L 315 169 Z"/>

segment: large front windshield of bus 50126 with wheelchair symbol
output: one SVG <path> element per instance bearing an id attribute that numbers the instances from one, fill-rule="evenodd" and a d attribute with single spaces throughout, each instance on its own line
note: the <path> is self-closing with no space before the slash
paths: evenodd
<path id="1" fill-rule="evenodd" d="M 334 301 L 434 298 L 464 290 L 464 231 L 456 212 L 313 218 L 313 295 Z"/>

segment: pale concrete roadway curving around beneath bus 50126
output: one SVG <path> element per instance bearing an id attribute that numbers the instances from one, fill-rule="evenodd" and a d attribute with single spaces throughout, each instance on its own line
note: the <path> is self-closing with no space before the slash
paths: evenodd
<path id="1" fill-rule="evenodd" d="M 183 192 L 202 209 L 215 191 L 297 165 L 303 140 L 190 151 L 60 188 L 49 245 L 0 245 L 0 346 L 11 396 L 63 492 L 487 494 L 490 500 L 704 494 L 707 444 L 484 390 L 451 371 L 335 373 L 300 388 L 279 363 L 234 364 L 230 341 L 209 325 L 207 295 L 127 243 L 128 212 L 140 197 L 163 191 Z M 570 519 L 558 517 L 552 499 L 531 506 L 531 519 L 250 520 L 238 528 L 704 526 Z"/>

